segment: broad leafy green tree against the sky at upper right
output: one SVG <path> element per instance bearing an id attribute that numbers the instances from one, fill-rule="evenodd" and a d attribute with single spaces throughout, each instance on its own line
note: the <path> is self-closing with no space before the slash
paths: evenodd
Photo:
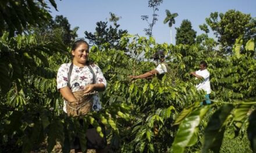
<path id="1" fill-rule="evenodd" d="M 211 13 L 205 20 L 227 53 L 232 52 L 232 45 L 240 35 L 246 41 L 256 38 L 256 20 L 250 14 L 228 10 L 225 14 Z"/>

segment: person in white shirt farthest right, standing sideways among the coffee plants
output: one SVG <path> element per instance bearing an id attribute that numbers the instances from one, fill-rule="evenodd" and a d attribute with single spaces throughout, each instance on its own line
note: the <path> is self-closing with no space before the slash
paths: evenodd
<path id="1" fill-rule="evenodd" d="M 200 70 L 195 72 L 190 72 L 191 75 L 194 75 L 197 79 L 203 79 L 198 85 L 195 86 L 197 90 L 204 90 L 205 94 L 205 102 L 206 104 L 211 104 L 211 100 L 209 99 L 209 94 L 211 93 L 211 85 L 210 85 L 210 73 L 207 70 L 207 63 L 205 61 L 201 61 Z"/>

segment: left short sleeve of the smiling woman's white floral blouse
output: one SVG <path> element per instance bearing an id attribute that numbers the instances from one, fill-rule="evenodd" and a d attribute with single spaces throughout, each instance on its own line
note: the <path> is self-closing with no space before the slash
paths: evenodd
<path id="1" fill-rule="evenodd" d="M 67 86 L 68 70 L 69 70 L 68 64 L 62 64 L 61 67 L 59 67 L 59 70 L 57 73 L 57 89 L 61 89 Z"/>

